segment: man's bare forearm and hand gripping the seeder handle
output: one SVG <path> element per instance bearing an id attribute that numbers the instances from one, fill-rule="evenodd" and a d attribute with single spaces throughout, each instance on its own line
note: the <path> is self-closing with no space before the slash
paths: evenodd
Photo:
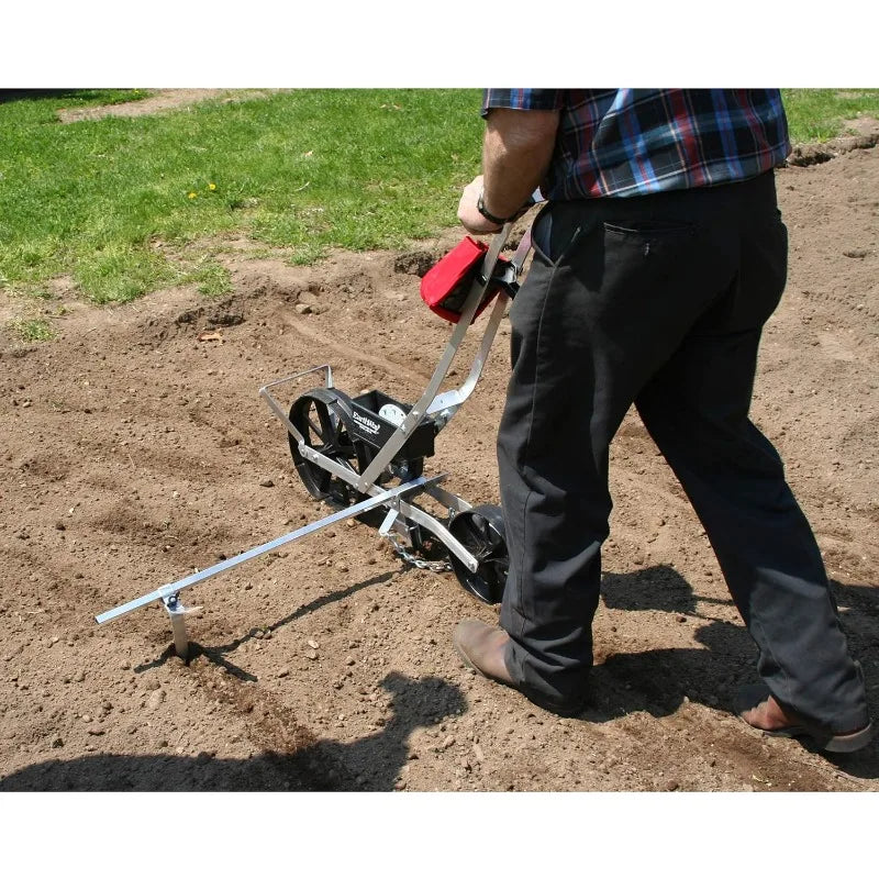
<path id="1" fill-rule="evenodd" d="M 458 220 L 476 235 L 500 226 L 477 209 L 483 191 L 485 209 L 499 218 L 512 216 L 543 180 L 555 149 L 557 110 L 492 110 L 482 143 L 482 174 L 469 183 L 458 204 Z"/>

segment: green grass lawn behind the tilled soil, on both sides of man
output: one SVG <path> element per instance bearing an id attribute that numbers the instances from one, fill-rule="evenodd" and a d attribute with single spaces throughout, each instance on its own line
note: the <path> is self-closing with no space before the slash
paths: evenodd
<path id="1" fill-rule="evenodd" d="M 222 294 L 224 236 L 294 263 L 331 247 L 404 246 L 456 223 L 459 189 L 479 165 L 476 89 L 300 90 L 162 115 L 57 119 L 60 108 L 146 94 L 0 100 L 0 289 L 37 301 L 51 298 L 51 278 L 70 275 L 98 303 L 180 282 Z M 879 118 L 877 89 L 785 98 L 794 143 L 844 132 L 858 112 Z M 37 324 L 23 333 L 46 335 Z"/>

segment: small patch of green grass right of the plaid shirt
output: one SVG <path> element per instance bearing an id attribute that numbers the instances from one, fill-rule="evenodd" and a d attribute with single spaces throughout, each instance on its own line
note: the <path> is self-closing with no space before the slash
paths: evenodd
<path id="1" fill-rule="evenodd" d="M 845 134 L 858 114 L 879 119 L 879 89 L 785 89 L 782 97 L 794 144 Z"/>

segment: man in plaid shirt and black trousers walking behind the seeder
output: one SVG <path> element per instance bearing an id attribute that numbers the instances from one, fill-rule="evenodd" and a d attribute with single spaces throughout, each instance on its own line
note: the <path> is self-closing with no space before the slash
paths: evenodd
<path id="1" fill-rule="evenodd" d="M 634 404 L 680 480 L 759 648 L 738 712 L 828 750 L 871 737 L 863 674 L 811 527 L 748 419 L 763 325 L 787 278 L 771 89 L 488 90 L 482 171 L 458 216 L 498 231 L 539 185 L 510 311 L 498 435 L 510 576 L 464 661 L 576 714 L 592 665 L 611 439 Z"/>

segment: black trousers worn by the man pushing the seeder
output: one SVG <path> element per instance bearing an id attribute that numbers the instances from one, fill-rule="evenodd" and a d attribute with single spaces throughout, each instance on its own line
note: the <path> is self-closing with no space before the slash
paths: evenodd
<path id="1" fill-rule="evenodd" d="M 787 277 L 772 174 L 550 203 L 533 236 L 498 436 L 514 680 L 563 713 L 585 701 L 608 449 L 634 403 L 708 533 L 771 692 L 835 731 L 866 725 L 811 527 L 748 419 L 761 327 Z"/>

